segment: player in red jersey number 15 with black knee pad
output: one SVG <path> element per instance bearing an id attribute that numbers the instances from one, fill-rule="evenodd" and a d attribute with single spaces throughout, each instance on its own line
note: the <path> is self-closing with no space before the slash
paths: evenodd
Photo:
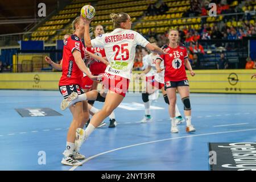
<path id="1" fill-rule="evenodd" d="M 191 125 L 189 84 L 185 67 L 189 70 L 191 76 L 195 76 L 195 72 L 193 72 L 189 63 L 187 49 L 179 46 L 179 32 L 177 30 L 170 30 L 168 38 L 169 45 L 164 49 L 168 54 L 160 55 L 156 59 L 156 69 L 158 73 L 164 70 L 164 88 L 170 102 L 171 133 L 179 132 L 175 123 L 176 90 L 179 92 L 181 101 L 184 104 L 184 115 L 187 122 L 186 131 L 194 132 L 196 129 Z M 164 61 L 164 68 L 160 68 L 161 61 Z"/>

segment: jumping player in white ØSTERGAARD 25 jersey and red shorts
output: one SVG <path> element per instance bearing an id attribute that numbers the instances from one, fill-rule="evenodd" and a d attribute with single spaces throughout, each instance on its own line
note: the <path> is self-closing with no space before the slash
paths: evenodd
<path id="1" fill-rule="evenodd" d="M 110 15 L 114 22 L 114 30 L 109 34 L 103 34 L 96 39 L 90 40 L 89 24 L 91 20 L 85 21 L 85 45 L 88 47 L 104 47 L 106 57 L 110 65 L 106 68 L 102 77 L 102 84 L 108 89 L 104 106 L 98 113 L 93 115 L 90 124 L 86 130 L 77 129 L 76 141 L 81 146 L 93 130 L 122 102 L 128 90 L 131 78 L 131 70 L 135 57 L 135 48 L 137 45 L 146 47 L 152 52 L 163 55 L 165 52 L 157 46 L 149 43 L 142 35 L 131 29 L 131 18 L 127 13 L 118 13 Z M 91 91 L 92 92 L 92 91 Z M 73 94 L 63 102 L 61 107 L 65 109 L 76 102 L 91 100 L 90 92 L 86 94 Z M 94 96 L 95 98 L 95 96 Z"/>

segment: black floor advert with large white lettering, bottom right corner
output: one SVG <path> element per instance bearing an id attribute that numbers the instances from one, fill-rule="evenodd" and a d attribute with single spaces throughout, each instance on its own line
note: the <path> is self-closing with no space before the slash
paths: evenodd
<path id="1" fill-rule="evenodd" d="M 211 171 L 256 171 L 256 143 L 209 143 Z"/>

